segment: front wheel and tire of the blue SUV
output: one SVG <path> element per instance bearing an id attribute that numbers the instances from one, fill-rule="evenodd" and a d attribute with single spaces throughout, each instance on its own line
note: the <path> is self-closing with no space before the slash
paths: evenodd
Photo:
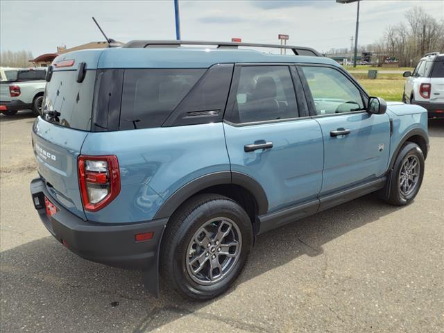
<path id="1" fill-rule="evenodd" d="M 408 171 L 413 165 L 413 161 L 418 167 Z M 421 187 L 422 178 L 424 178 L 424 167 L 424 155 L 421 148 L 413 142 L 406 142 L 393 165 L 390 192 L 386 201 L 395 206 L 404 206 L 411 203 Z M 414 174 L 416 176 L 413 176 Z M 409 187 L 410 185 L 412 187 Z"/>

